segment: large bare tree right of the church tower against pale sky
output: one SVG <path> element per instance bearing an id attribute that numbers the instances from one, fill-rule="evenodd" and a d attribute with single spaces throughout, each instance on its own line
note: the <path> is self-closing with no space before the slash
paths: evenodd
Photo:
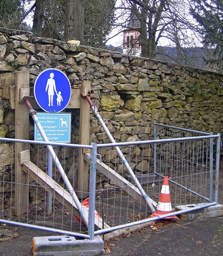
<path id="1" fill-rule="evenodd" d="M 182 63 L 182 49 L 190 41 L 189 30 L 195 29 L 186 12 L 186 3 L 187 0 L 122 0 L 117 8 L 117 14 L 120 14 L 117 21 L 121 22 L 115 25 L 128 29 L 133 13 L 140 22 L 137 30 L 140 32 L 141 55 L 155 58 L 157 45 L 165 41 L 178 48 L 178 61 Z"/>

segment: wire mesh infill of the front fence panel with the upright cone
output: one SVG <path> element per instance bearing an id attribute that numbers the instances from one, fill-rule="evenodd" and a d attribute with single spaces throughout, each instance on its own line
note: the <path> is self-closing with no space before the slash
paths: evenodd
<path id="1" fill-rule="evenodd" d="M 160 131 L 185 138 L 185 133 Z M 197 136 L 197 134 L 186 134 Z M 159 134 L 158 134 L 159 136 Z M 182 137 L 183 136 L 183 137 Z M 120 147 L 134 174 L 138 178 L 146 195 L 159 202 L 163 185 L 163 176 L 169 177 L 170 199 L 173 211 L 179 205 L 200 205 L 209 203 L 210 163 L 209 139 L 170 141 L 156 144 L 156 162 L 154 163 L 154 144 L 128 145 Z M 109 226 L 117 226 L 149 218 L 151 209 L 143 197 L 137 198 L 137 188 L 118 185 L 120 179 L 130 179 L 128 169 L 122 163 L 115 147 L 98 149 L 107 169 L 115 171 L 115 176 L 104 175 L 103 167 L 98 169 L 96 210 Z M 154 164 L 156 172 L 154 175 Z M 119 176 L 120 175 L 120 176 Z M 102 210 L 103 209 L 103 210 Z"/>

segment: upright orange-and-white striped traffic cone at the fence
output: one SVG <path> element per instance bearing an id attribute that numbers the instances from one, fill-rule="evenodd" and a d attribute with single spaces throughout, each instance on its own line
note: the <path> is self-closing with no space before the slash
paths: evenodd
<path id="1" fill-rule="evenodd" d="M 150 215 L 150 217 L 157 217 L 170 212 L 172 212 L 172 206 L 170 202 L 169 181 L 168 181 L 168 176 L 164 176 L 159 203 L 157 204 L 156 211 L 152 215 Z M 177 216 L 174 215 L 174 216 L 166 217 L 164 219 L 178 219 L 178 218 Z"/>

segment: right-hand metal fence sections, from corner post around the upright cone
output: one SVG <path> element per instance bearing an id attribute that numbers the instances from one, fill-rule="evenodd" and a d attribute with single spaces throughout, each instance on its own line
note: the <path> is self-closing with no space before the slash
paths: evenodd
<path id="1" fill-rule="evenodd" d="M 220 134 L 160 124 L 155 124 L 154 127 L 154 140 L 97 145 L 102 159 L 108 163 L 107 166 L 100 166 L 99 163 L 97 166 L 98 175 L 104 177 L 104 181 L 96 190 L 96 209 L 110 227 L 98 229 L 95 234 L 217 204 Z M 152 211 L 140 195 L 140 190 L 123 179 L 127 177 L 134 185 L 128 169 L 115 151 L 117 146 L 155 208 L 159 202 L 163 177 L 168 176 L 172 213 L 150 218 Z M 179 210 L 180 206 L 185 205 L 187 207 L 184 210 Z"/>

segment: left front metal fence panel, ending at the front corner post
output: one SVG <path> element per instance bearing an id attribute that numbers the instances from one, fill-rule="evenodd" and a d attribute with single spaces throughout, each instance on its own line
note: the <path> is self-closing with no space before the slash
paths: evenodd
<path id="1" fill-rule="evenodd" d="M 28 174 L 26 182 L 15 182 L 16 144 L 21 147 L 21 150 L 19 150 L 22 163 L 20 172 Z M 23 151 L 24 144 L 28 146 L 26 151 Z M 64 169 L 64 177 L 59 174 L 55 162 L 52 163 L 52 176 L 47 175 L 49 169 L 47 145 L 53 147 L 57 158 L 60 160 Z M 81 201 L 83 199 L 82 191 L 74 189 L 70 193 L 64 181 L 66 174 L 69 174 L 71 185 L 74 188 L 76 187 L 75 175 L 77 173 L 75 171 L 77 169 L 75 163 L 78 148 L 93 150 L 93 146 L 37 141 L 33 144 L 31 140 L 0 138 L 0 222 L 83 238 L 92 237 L 94 223 L 92 224 L 91 221 L 94 219 L 94 200 L 91 199 L 89 202 L 89 211 L 86 207 L 82 207 L 82 211 L 89 215 L 87 228 L 77 220 L 79 218 L 82 221 L 82 216 L 79 214 L 72 198 L 72 193 L 79 193 Z M 94 155 L 96 157 L 96 154 Z M 92 159 L 90 159 L 90 175 L 91 180 L 93 180 L 92 172 L 95 172 L 95 170 L 94 166 L 92 169 L 91 162 Z M 18 200 L 20 201 L 22 197 L 25 197 L 23 201 L 27 202 L 25 213 L 20 214 L 19 209 L 18 216 L 15 214 L 16 186 L 19 186 L 17 191 L 21 194 Z M 90 189 L 95 191 L 95 186 L 90 186 Z M 93 195 L 93 193 L 88 194 L 90 197 Z M 51 195 L 51 198 L 49 195 Z M 21 203 L 17 203 L 22 208 Z"/>

